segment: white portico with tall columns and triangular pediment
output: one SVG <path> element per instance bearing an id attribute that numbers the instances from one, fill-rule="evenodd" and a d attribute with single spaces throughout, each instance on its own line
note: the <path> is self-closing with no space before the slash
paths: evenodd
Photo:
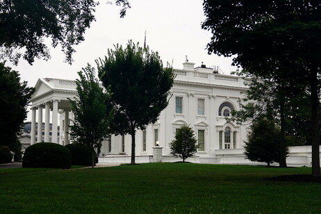
<path id="1" fill-rule="evenodd" d="M 69 144 L 68 131 L 72 115 L 69 115 L 71 114 L 71 104 L 68 99 L 74 99 L 76 94 L 74 81 L 49 78 L 38 80 L 35 85 L 35 93 L 31 97 L 31 145 L 36 142 Z M 65 115 L 64 120 L 60 120 L 60 124 L 58 124 L 59 114 Z M 43 122 L 44 127 L 42 126 Z M 38 128 L 36 128 L 37 123 Z M 59 130 L 58 125 L 60 126 Z"/>

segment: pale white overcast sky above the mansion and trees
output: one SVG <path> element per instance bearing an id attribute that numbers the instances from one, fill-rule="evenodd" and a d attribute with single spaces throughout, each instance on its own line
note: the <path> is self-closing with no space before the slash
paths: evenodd
<path id="1" fill-rule="evenodd" d="M 120 7 L 101 0 L 96 10 L 96 22 L 85 33 L 85 41 L 75 47 L 74 63 L 64 63 L 64 54 L 60 47 L 51 48 L 51 59 L 35 60 L 33 65 L 20 60 L 17 67 L 23 81 L 34 86 L 40 77 L 58 79 L 76 79 L 77 72 L 87 63 L 96 67 L 94 60 L 107 54 L 114 44 L 126 45 L 128 40 L 144 44 L 145 31 L 147 45 L 158 51 L 163 65 L 167 61 L 177 69 L 188 56 L 195 67 L 201 62 L 208 67 L 218 65 L 224 74 L 229 74 L 236 67 L 231 67 L 231 58 L 208 55 L 206 44 L 211 33 L 201 29 L 204 21 L 202 1 L 200 0 L 130 0 L 131 8 L 126 16 L 120 18 Z M 49 43 L 50 44 L 50 43 Z"/>

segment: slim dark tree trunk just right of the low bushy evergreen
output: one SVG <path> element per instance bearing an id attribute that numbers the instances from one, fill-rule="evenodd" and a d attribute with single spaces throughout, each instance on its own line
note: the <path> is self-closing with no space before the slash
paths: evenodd
<path id="1" fill-rule="evenodd" d="M 280 103 L 280 119 L 281 119 L 281 139 L 280 139 L 280 160 L 279 167 L 287 167 L 286 165 L 286 120 L 284 118 L 284 103 L 285 99 L 283 96 L 283 90 L 281 92 L 281 103 Z"/>

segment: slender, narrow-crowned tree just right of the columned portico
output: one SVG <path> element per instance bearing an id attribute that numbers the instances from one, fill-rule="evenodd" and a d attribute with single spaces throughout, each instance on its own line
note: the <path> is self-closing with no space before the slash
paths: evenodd
<path id="1" fill-rule="evenodd" d="M 69 99 L 74 113 L 74 125 L 70 127 L 70 134 L 76 141 L 92 148 L 92 167 L 94 167 L 94 149 L 100 149 L 101 142 L 109 135 L 109 126 L 113 118 L 113 110 L 108 108 L 110 90 L 99 86 L 94 78 L 94 69 L 88 64 L 78 72 L 75 100 Z"/>

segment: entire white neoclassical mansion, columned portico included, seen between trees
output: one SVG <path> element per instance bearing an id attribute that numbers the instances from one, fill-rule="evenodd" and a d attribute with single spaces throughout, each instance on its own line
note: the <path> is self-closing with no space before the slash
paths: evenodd
<path id="1" fill-rule="evenodd" d="M 188 161 L 251 164 L 243 154 L 249 128 L 225 120 L 231 110 L 238 110 L 238 101 L 245 98 L 241 92 L 247 90 L 245 81 L 249 80 L 219 74 L 217 67 L 195 67 L 195 63 L 189 62 L 183 63 L 183 69 L 174 69 L 174 74 L 176 78 L 167 108 L 161 112 L 155 124 L 147 126 L 145 131 L 136 132 L 136 162 L 151 162 L 156 144 L 162 154 L 158 161 L 177 161 L 170 156 L 170 142 L 174 140 L 176 129 L 189 125 L 195 131 L 199 149 L 195 157 L 188 158 Z M 52 122 L 51 141 L 67 145 L 72 140 L 67 133 L 73 119 L 68 99 L 73 99 L 77 94 L 74 81 L 39 79 L 35 88 L 31 97 L 31 145 L 35 143 L 33 124 L 36 119 L 42 124 L 43 115 L 44 141 L 49 142 L 49 123 Z M 55 137 L 58 136 L 58 117 L 60 139 Z M 38 131 L 38 139 L 42 139 L 42 131 Z M 288 165 L 311 165 L 309 147 L 295 147 L 294 151 L 288 157 Z M 131 135 L 110 135 L 101 147 L 99 161 L 129 163 L 130 156 Z"/>

